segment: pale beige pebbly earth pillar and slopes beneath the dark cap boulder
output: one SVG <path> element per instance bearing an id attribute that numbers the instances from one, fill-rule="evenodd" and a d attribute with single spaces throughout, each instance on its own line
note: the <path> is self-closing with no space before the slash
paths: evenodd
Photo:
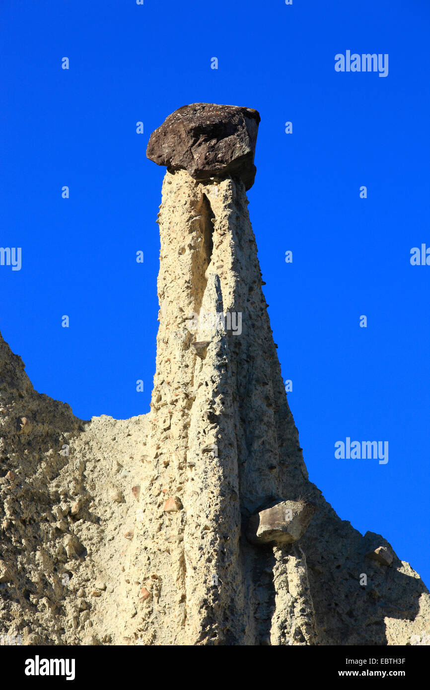
<path id="1" fill-rule="evenodd" d="M 0 635 L 429 643 L 419 575 L 380 535 L 340 520 L 309 482 L 247 204 L 239 180 L 166 173 L 148 415 L 77 419 L 34 391 L 0 339 Z M 195 318 L 215 312 L 241 313 L 242 332 Z M 248 542 L 253 513 L 302 495 L 317 511 L 297 542 Z M 366 558 L 381 546 L 389 566 Z"/>

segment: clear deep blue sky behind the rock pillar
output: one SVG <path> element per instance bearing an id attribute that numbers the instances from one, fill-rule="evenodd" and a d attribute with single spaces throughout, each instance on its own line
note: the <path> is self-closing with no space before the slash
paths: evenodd
<path id="1" fill-rule="evenodd" d="M 0 12 L 0 246 L 22 248 L 21 270 L 0 266 L 0 330 L 37 391 L 86 419 L 148 411 L 164 175 L 148 137 L 186 103 L 257 108 L 249 210 L 309 476 L 429 585 L 430 266 L 409 261 L 430 246 L 427 0 Z M 335 72 L 346 50 L 387 53 L 389 75 Z M 346 437 L 388 441 L 389 462 L 336 460 Z"/>

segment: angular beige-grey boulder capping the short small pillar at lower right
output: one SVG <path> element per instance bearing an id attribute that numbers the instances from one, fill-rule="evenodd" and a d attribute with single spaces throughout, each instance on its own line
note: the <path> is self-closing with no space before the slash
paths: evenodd
<path id="1" fill-rule="evenodd" d="M 282 501 L 251 515 L 246 538 L 253 544 L 293 544 L 306 532 L 316 511 L 314 503 Z"/>

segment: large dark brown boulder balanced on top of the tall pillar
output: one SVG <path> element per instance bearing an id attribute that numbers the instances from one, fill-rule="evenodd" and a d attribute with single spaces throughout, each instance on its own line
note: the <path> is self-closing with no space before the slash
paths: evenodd
<path id="1" fill-rule="evenodd" d="M 148 142 L 146 156 L 194 179 L 231 175 L 248 190 L 254 184 L 260 115 L 253 108 L 192 103 L 167 117 Z"/>

